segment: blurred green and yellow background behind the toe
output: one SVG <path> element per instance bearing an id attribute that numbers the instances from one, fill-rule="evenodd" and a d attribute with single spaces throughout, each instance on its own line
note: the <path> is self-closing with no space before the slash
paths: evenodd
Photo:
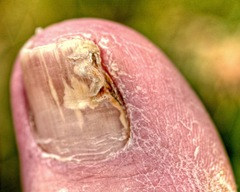
<path id="1" fill-rule="evenodd" d="M 205 104 L 240 186 L 240 1 L 0 0 L 1 191 L 21 191 L 9 94 L 17 53 L 37 27 L 81 17 L 123 23 L 165 52 Z"/>

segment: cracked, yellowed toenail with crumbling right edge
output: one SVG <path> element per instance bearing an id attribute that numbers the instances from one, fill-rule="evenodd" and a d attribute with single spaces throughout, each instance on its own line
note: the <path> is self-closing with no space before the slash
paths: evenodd
<path id="1" fill-rule="evenodd" d="M 20 63 L 32 133 L 45 155 L 102 161 L 124 150 L 129 120 L 97 44 L 71 36 L 34 48 L 26 45 Z"/>

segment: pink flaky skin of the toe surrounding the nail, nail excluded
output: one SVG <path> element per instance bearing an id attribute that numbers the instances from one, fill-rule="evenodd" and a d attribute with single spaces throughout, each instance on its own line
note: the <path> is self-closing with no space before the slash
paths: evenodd
<path id="1" fill-rule="evenodd" d="M 35 47 L 69 35 L 85 36 L 100 47 L 103 64 L 127 107 L 131 143 L 102 163 L 45 157 L 30 130 L 17 61 L 11 91 L 25 192 L 236 191 L 228 158 L 204 107 L 153 44 L 124 26 L 94 19 L 53 25 L 30 41 Z"/>

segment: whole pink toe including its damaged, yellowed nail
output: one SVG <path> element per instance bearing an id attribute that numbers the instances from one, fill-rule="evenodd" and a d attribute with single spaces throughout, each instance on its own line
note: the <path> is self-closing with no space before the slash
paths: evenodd
<path id="1" fill-rule="evenodd" d="M 236 191 L 196 95 L 125 26 L 76 19 L 38 32 L 11 85 L 24 191 Z"/>

